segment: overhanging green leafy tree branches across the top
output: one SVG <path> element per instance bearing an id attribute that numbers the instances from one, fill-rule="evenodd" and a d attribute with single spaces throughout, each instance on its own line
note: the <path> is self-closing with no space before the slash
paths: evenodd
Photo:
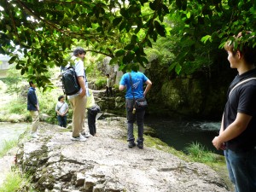
<path id="1" fill-rule="evenodd" d="M 112 57 L 111 63 L 125 70 L 131 61 L 148 62 L 144 48 L 152 47 L 158 36 L 176 32 L 183 35 L 183 46 L 170 70 L 179 72 L 201 41 L 223 46 L 229 36 L 253 31 L 255 9 L 253 0 L 1 0 L 0 53 L 10 55 L 9 63 L 21 74 L 47 87 L 45 73 L 65 65 L 75 44 Z M 179 18 L 180 30 L 172 31 L 166 17 Z M 254 38 L 244 41 L 248 39 L 256 45 Z"/>

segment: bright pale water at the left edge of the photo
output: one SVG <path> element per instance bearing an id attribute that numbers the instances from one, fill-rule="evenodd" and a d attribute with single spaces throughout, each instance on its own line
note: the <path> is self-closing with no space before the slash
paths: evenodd
<path id="1" fill-rule="evenodd" d="M 3 148 L 4 141 L 16 140 L 24 131 L 26 123 L 7 123 L 0 122 L 0 150 Z"/>

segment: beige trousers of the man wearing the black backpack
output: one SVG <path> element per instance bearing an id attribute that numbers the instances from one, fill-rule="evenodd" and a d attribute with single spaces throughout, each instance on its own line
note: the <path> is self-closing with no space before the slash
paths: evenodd
<path id="1" fill-rule="evenodd" d="M 84 131 L 85 120 L 85 108 L 86 108 L 86 96 L 76 96 L 70 99 L 71 106 L 73 108 L 73 137 L 78 137 L 79 133 Z"/>

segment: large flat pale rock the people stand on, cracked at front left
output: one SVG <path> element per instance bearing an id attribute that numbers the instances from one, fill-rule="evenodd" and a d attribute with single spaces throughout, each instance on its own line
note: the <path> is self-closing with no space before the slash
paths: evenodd
<path id="1" fill-rule="evenodd" d="M 208 166 L 154 148 L 128 148 L 125 119 L 98 120 L 97 136 L 70 140 L 71 132 L 41 123 L 40 138 L 20 144 L 18 165 L 38 191 L 228 191 Z"/>

